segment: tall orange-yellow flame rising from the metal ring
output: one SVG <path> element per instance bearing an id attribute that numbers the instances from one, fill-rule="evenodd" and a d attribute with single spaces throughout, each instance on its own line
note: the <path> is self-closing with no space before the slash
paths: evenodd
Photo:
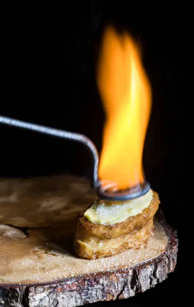
<path id="1" fill-rule="evenodd" d="M 151 110 L 151 87 L 137 44 L 127 33 L 106 29 L 97 83 L 106 112 L 99 178 L 112 190 L 144 182 L 142 156 Z"/>

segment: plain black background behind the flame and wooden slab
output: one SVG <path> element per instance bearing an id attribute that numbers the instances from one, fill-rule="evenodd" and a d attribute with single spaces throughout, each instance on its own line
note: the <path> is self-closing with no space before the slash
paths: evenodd
<path id="1" fill-rule="evenodd" d="M 96 306 L 187 305 L 191 299 L 192 163 L 186 164 L 192 122 L 185 86 L 190 10 L 164 2 L 143 7 L 85 1 L 63 7 L 10 5 L 3 14 L 0 114 L 83 133 L 99 151 L 105 115 L 94 68 L 104 26 L 111 22 L 128 29 L 143 51 L 153 91 L 144 170 L 167 222 L 178 230 L 178 261 L 175 272 L 154 289 Z M 90 156 L 80 144 L 2 125 L 0 137 L 0 177 L 91 174 Z"/>

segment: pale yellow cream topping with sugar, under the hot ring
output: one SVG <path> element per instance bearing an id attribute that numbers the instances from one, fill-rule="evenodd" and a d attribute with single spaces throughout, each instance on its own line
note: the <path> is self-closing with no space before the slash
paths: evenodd
<path id="1" fill-rule="evenodd" d="M 85 211 L 84 216 L 92 223 L 114 225 L 141 213 L 149 206 L 152 197 L 153 192 L 150 189 L 145 195 L 127 202 L 105 203 L 104 201 L 96 201 Z"/>

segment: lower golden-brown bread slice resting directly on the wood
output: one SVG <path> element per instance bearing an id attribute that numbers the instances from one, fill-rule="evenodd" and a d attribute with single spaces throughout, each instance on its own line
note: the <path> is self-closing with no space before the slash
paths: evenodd
<path id="1" fill-rule="evenodd" d="M 147 239 L 153 235 L 153 218 L 139 230 L 113 239 L 100 240 L 88 237 L 86 241 L 75 238 L 74 248 L 77 256 L 85 259 L 109 257 L 128 248 L 144 247 Z"/>

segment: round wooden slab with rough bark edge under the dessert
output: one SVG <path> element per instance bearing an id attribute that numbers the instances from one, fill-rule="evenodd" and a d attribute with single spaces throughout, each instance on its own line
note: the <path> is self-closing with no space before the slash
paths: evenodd
<path id="1" fill-rule="evenodd" d="M 95 199 L 83 178 L 0 181 L 0 305 L 78 306 L 127 298 L 167 278 L 178 241 L 161 216 L 144 249 L 75 256 L 76 216 Z"/>

